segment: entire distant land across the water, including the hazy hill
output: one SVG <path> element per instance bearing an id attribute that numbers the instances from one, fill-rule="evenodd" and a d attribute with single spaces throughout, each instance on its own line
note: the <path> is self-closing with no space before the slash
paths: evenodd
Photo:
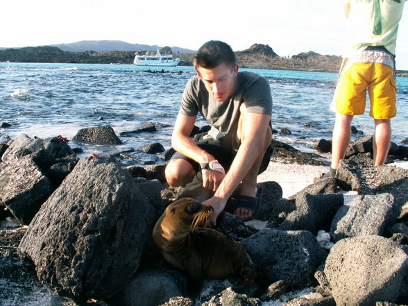
<path id="1" fill-rule="evenodd" d="M 112 51 L 112 50 L 120 51 Z M 120 41 L 84 41 L 53 46 L 33 46 L 19 49 L 0 49 L 0 62 L 51 62 L 78 64 L 131 64 L 135 51 L 160 50 L 163 55 L 180 58 L 179 66 L 192 66 L 196 51 L 176 46 L 148 46 Z M 314 51 L 296 56 L 281 57 L 267 44 L 253 44 L 249 49 L 235 52 L 239 67 L 250 69 L 275 69 L 296 71 L 339 71 L 341 56 L 321 55 Z M 397 71 L 398 76 L 408 76 L 408 71 Z"/>

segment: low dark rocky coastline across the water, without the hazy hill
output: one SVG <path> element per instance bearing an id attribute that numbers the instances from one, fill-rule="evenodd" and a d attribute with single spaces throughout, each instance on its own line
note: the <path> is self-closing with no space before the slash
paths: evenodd
<path id="1" fill-rule="evenodd" d="M 169 46 L 160 52 L 172 54 Z M 179 66 L 193 66 L 195 53 L 177 53 L 180 58 Z M 273 49 L 264 44 L 253 44 L 249 49 L 235 52 L 241 68 L 272 69 L 294 71 L 316 71 L 338 73 L 341 56 L 321 55 L 313 51 L 302 52 L 290 58 L 278 56 Z M 0 62 L 53 62 L 73 64 L 124 64 L 133 62 L 133 51 L 62 51 L 56 46 L 36 46 L 21 49 L 0 50 Z M 407 77 L 408 71 L 397 70 L 396 75 Z"/>

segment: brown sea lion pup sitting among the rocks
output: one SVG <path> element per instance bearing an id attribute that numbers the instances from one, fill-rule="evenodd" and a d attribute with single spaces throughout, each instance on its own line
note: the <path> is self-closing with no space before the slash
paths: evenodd
<path id="1" fill-rule="evenodd" d="M 212 228 L 201 228 L 214 210 L 192 198 L 180 198 L 164 210 L 153 228 L 153 240 L 169 264 L 193 280 L 238 276 L 235 289 L 255 280 L 253 262 L 241 244 Z"/>

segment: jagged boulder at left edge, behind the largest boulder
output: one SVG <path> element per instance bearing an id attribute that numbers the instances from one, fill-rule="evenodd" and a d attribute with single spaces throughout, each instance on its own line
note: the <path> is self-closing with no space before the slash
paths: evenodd
<path id="1" fill-rule="evenodd" d="M 54 176 L 62 159 L 73 159 L 61 176 Z M 0 164 L 0 203 L 22 224 L 30 223 L 63 177 L 75 167 L 74 151 L 57 137 L 31 139 L 19 135 L 3 154 Z M 51 174 L 50 176 L 48 174 Z"/>

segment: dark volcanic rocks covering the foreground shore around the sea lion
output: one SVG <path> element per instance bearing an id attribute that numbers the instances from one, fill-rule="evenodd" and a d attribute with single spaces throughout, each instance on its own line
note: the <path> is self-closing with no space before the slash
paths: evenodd
<path id="1" fill-rule="evenodd" d="M 114 146 L 153 126 L 144 128 L 119 137 L 90 128 L 75 138 Z M 11 139 L 0 145 L 0 306 L 407 304 L 408 170 L 373 167 L 371 142 L 352 142 L 336 178 L 288 198 L 278 182 L 260 182 L 260 227 L 221 214 L 216 229 L 246 248 L 260 275 L 234 291 L 233 279 L 192 284 L 156 250 L 155 221 L 184 191 L 165 182 L 170 153 L 160 144 L 78 159 L 63 137 Z M 273 162 L 324 164 L 318 154 L 273 147 Z M 126 166 L 139 153 L 151 162 Z M 393 144 L 389 162 L 407 153 Z M 305 294 L 285 298 L 294 291 Z"/>

